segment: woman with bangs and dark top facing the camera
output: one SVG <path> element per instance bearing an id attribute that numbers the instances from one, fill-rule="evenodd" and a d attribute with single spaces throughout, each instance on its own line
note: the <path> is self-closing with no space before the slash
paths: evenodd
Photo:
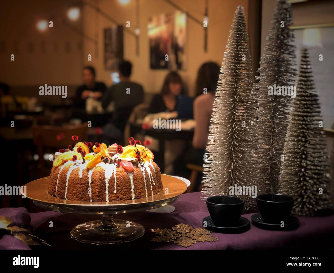
<path id="1" fill-rule="evenodd" d="M 181 76 L 172 71 L 166 75 L 160 94 L 153 97 L 148 114 L 174 111 L 177 118 L 193 118 L 193 100 L 185 94 Z"/>

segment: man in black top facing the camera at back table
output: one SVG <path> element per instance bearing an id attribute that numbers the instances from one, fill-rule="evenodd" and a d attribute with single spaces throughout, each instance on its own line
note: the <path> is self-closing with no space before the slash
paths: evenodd
<path id="1" fill-rule="evenodd" d="M 88 98 L 95 100 L 101 99 L 107 87 L 103 82 L 97 82 L 95 77 L 96 72 L 93 66 L 86 66 L 82 69 L 83 85 L 76 89 L 75 107 L 86 109 L 86 101 Z"/>

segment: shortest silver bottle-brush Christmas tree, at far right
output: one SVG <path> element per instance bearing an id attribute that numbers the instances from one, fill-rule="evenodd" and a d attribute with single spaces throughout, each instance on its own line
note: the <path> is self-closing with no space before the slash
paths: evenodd
<path id="1" fill-rule="evenodd" d="M 309 54 L 304 49 L 285 140 L 279 193 L 294 198 L 294 214 L 307 216 L 330 204 L 329 158 L 312 77 Z"/>

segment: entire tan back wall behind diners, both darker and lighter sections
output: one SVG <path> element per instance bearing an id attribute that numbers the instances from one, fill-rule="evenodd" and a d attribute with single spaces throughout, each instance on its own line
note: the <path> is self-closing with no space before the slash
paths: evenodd
<path id="1" fill-rule="evenodd" d="M 101 10 L 115 18 L 125 26 L 131 22 L 134 31 L 136 23 L 136 1 L 123 6 L 117 0 L 89 0 L 98 5 Z M 174 1 L 198 20 L 203 20 L 204 0 Z M 225 50 L 228 32 L 233 14 L 238 4 L 243 5 L 247 16 L 248 0 L 209 0 L 208 51 L 204 52 L 203 27 L 191 19 L 187 19 L 187 68 L 180 71 L 189 88 L 189 94 L 194 92 L 194 82 L 199 66 L 208 60 L 221 64 Z M 110 27 L 111 22 L 99 15 L 94 9 L 85 5 L 82 9 L 82 20 L 73 23 L 73 27 L 82 29 L 83 33 L 98 40 L 98 46 L 65 27 L 62 19 L 66 19 L 66 10 L 70 2 L 66 0 L 48 1 L 13 1 L 2 3 L 0 16 L 0 82 L 15 86 L 39 86 L 42 84 L 77 85 L 81 83 L 81 68 L 83 65 L 93 65 L 97 69 L 97 79 L 109 83 L 110 71 L 105 70 L 103 29 Z M 135 38 L 124 34 L 124 57 L 133 63 L 134 81 L 141 83 L 146 92 L 159 92 L 167 70 L 151 70 L 149 68 L 149 41 L 147 23 L 151 16 L 174 12 L 176 9 L 163 0 L 139 0 L 140 54 L 135 53 Z M 53 20 L 53 28 L 45 32 L 36 29 L 39 19 Z M 246 18 L 247 19 L 247 18 Z M 33 52 L 28 45 L 32 42 Z M 45 43 L 45 52 L 41 44 Z M 65 50 L 65 44 L 70 44 L 70 51 Z M 82 49 L 79 45 L 82 42 Z M 56 49 L 57 48 L 57 49 Z M 15 54 L 15 61 L 10 61 L 10 54 Z M 92 61 L 87 55 L 92 54 Z M 21 89 L 20 89 L 21 90 Z M 29 89 L 30 90 L 30 89 Z M 21 91 L 18 91 L 21 93 Z M 31 92 L 29 92 L 29 95 Z"/>

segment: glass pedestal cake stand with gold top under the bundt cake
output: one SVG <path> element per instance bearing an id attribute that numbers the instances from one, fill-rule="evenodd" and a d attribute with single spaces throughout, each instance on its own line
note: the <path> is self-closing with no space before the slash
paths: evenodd
<path id="1" fill-rule="evenodd" d="M 100 214 L 102 220 L 89 221 L 74 227 L 73 239 L 90 244 L 119 244 L 130 242 L 145 233 L 145 228 L 135 222 L 114 219 L 114 214 L 150 210 L 167 206 L 187 190 L 180 179 L 161 175 L 163 190 L 146 198 L 115 202 L 80 202 L 59 199 L 46 193 L 50 177 L 43 177 L 24 185 L 27 198 L 38 207 L 63 213 Z"/>

